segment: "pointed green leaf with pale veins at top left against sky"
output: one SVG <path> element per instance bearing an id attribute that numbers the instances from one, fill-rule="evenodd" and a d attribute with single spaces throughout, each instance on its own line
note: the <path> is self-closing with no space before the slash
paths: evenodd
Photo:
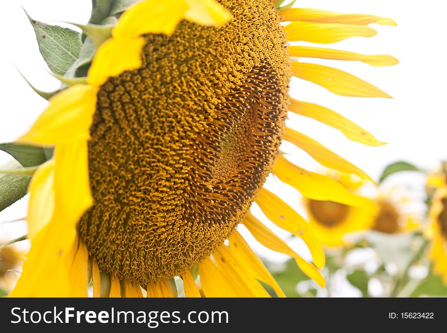
<path id="1" fill-rule="evenodd" d="M 28 13 L 26 16 L 33 25 L 40 53 L 48 67 L 55 73 L 65 75 L 79 57 L 82 45 L 80 33 L 33 20 Z"/>

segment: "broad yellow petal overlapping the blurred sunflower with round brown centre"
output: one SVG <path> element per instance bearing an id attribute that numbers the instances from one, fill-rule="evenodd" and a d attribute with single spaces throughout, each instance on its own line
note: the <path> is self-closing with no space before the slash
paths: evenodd
<path id="1" fill-rule="evenodd" d="M 310 172 L 279 156 L 273 173 L 283 182 L 293 186 L 304 197 L 312 200 L 334 201 L 349 206 L 370 206 L 370 201 L 349 192 L 332 177 Z"/>

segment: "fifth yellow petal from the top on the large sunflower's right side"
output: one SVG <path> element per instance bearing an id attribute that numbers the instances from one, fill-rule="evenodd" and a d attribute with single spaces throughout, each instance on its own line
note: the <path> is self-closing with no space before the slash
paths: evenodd
<path id="1" fill-rule="evenodd" d="M 289 111 L 331 126 L 343 133 L 349 140 L 374 147 L 386 144 L 378 141 L 371 133 L 327 107 L 291 98 Z"/>

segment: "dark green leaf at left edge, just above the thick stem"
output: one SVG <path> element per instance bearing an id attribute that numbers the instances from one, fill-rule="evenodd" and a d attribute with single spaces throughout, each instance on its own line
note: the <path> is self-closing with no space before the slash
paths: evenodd
<path id="1" fill-rule="evenodd" d="M 42 147 L 18 143 L 0 143 L 0 150 L 14 157 L 23 167 L 41 165 L 48 160 L 47 153 Z"/>

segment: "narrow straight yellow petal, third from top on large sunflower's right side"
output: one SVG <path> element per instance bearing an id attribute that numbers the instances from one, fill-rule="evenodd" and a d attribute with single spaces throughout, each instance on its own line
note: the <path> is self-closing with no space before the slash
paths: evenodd
<path id="1" fill-rule="evenodd" d="M 362 61 L 371 66 L 393 66 L 399 63 L 395 57 L 386 54 L 366 55 L 355 52 L 315 48 L 309 46 L 289 46 L 291 57 L 320 58 L 344 61 Z"/>

